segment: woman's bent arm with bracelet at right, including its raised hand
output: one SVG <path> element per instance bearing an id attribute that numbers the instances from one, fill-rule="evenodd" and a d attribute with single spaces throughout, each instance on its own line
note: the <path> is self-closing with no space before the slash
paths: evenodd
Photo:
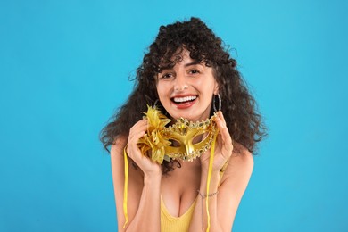
<path id="1" fill-rule="evenodd" d="M 234 149 L 222 112 L 218 112 L 215 122 L 220 134 L 216 140 L 209 194 L 207 196 L 206 193 L 210 162 L 210 153 L 207 152 L 200 158 L 202 167 L 198 196 L 200 201 L 195 205 L 190 231 L 205 231 L 208 226 L 206 197 L 209 206 L 210 231 L 231 231 L 236 210 L 253 172 L 252 154 L 242 145 L 236 145 Z M 226 162 L 228 167 L 223 179 L 220 179 L 220 170 Z"/>

